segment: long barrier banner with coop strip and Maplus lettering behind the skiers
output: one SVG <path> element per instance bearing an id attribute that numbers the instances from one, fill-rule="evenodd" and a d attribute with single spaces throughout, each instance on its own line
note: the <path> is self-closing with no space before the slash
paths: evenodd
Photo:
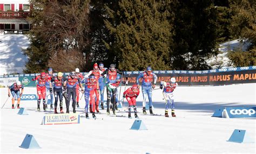
<path id="1" fill-rule="evenodd" d="M 127 76 L 129 86 L 136 83 L 137 76 L 144 71 L 127 71 L 123 74 L 123 80 Z M 153 71 L 157 75 L 157 85 L 160 81 L 170 82 L 172 77 L 176 78 L 178 85 L 181 86 L 219 86 L 219 85 L 231 85 L 238 83 L 256 83 L 256 66 L 247 67 L 234 67 L 234 68 L 220 68 L 210 69 L 205 71 Z M 87 74 L 86 72 L 81 73 Z M 16 74 L 16 75 L 0 75 L 0 87 L 6 87 L 17 79 L 22 82 L 24 87 L 35 87 L 36 82 L 32 81 L 32 78 L 38 73 L 34 74 Z M 57 75 L 54 73 L 53 75 Z M 64 73 L 64 76 L 69 73 Z M 142 78 L 139 79 L 142 82 Z"/>

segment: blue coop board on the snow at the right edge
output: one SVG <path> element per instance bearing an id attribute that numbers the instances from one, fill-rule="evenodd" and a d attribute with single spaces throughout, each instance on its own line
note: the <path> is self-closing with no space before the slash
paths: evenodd
<path id="1" fill-rule="evenodd" d="M 235 107 L 226 108 L 228 117 L 230 118 L 243 118 L 243 117 L 256 117 L 256 107 Z"/>

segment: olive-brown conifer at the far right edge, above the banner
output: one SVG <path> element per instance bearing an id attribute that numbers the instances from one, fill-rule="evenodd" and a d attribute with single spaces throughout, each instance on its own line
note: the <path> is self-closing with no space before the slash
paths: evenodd
<path id="1" fill-rule="evenodd" d="M 235 67 L 256 65 L 256 1 L 235 0 L 230 1 L 230 6 L 231 34 L 236 39 L 247 40 L 251 45 L 246 52 L 239 48 L 231 51 L 228 57 Z"/>

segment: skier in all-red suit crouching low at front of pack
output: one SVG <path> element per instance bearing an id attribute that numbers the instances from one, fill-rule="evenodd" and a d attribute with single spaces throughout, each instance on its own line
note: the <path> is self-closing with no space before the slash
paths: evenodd
<path id="1" fill-rule="evenodd" d="M 138 118 L 137 115 L 137 107 L 136 107 L 136 99 L 139 95 L 139 88 L 137 85 L 133 85 L 131 88 L 125 90 L 123 97 L 126 98 L 129 103 L 129 114 L 128 117 L 131 118 L 131 107 L 133 106 L 134 116 Z"/>

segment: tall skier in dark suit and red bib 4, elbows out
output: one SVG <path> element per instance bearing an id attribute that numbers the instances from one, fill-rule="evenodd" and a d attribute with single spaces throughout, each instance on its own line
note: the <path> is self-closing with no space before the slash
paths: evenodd
<path id="1" fill-rule="evenodd" d="M 110 114 L 109 111 L 109 103 L 111 99 L 111 92 L 112 92 L 112 98 L 113 98 L 113 106 L 116 106 L 116 94 L 117 94 L 117 87 L 114 86 L 114 84 L 117 82 L 117 73 L 123 74 L 123 72 L 119 71 L 115 68 L 114 64 L 110 65 L 109 69 L 106 69 L 102 75 L 104 75 L 104 78 L 107 78 L 107 115 Z M 116 111 L 113 108 L 113 114 L 116 115 Z"/>

